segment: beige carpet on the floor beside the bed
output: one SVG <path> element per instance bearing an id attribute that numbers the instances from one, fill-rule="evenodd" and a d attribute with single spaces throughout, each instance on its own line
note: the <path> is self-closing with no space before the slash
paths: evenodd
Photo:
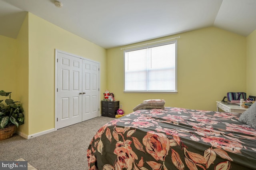
<path id="1" fill-rule="evenodd" d="M 88 170 L 90 141 L 100 127 L 115 119 L 96 117 L 30 139 L 14 134 L 0 140 L 0 161 L 23 158 L 38 170 Z"/>

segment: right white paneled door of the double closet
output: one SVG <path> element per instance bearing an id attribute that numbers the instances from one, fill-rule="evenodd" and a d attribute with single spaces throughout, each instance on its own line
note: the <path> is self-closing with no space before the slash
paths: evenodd
<path id="1" fill-rule="evenodd" d="M 99 63 L 83 59 L 82 121 L 99 116 Z"/>

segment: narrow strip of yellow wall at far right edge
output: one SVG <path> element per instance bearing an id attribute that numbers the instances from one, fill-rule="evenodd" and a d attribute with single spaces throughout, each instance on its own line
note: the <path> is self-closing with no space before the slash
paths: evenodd
<path id="1" fill-rule="evenodd" d="M 246 90 L 248 96 L 256 96 L 256 30 L 246 38 L 246 47 Z"/>

